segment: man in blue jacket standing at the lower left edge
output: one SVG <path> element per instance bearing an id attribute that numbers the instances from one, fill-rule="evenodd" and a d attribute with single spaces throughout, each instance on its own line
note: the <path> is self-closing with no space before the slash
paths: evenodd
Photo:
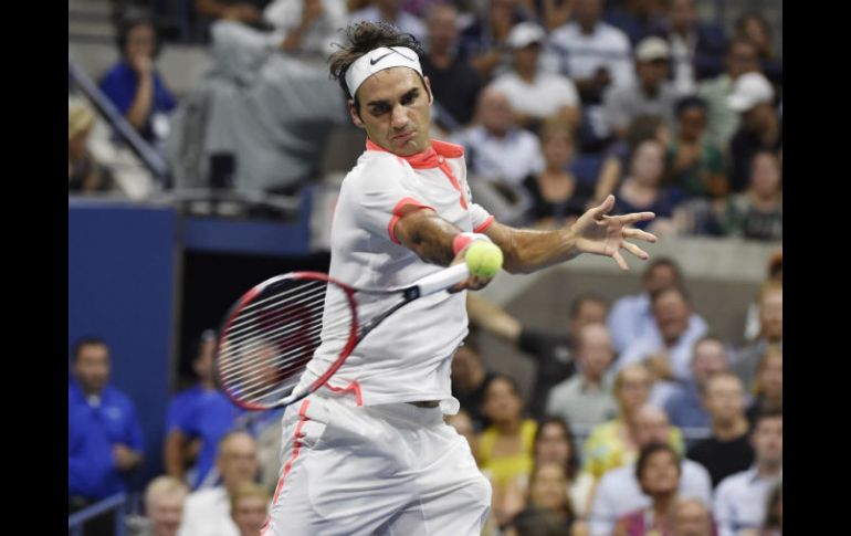
<path id="1" fill-rule="evenodd" d="M 108 385 L 109 348 L 85 337 L 73 347 L 69 381 L 69 514 L 127 491 L 125 476 L 145 454 L 141 423 L 133 401 Z M 101 515 L 86 536 L 109 535 L 114 513 Z"/>

